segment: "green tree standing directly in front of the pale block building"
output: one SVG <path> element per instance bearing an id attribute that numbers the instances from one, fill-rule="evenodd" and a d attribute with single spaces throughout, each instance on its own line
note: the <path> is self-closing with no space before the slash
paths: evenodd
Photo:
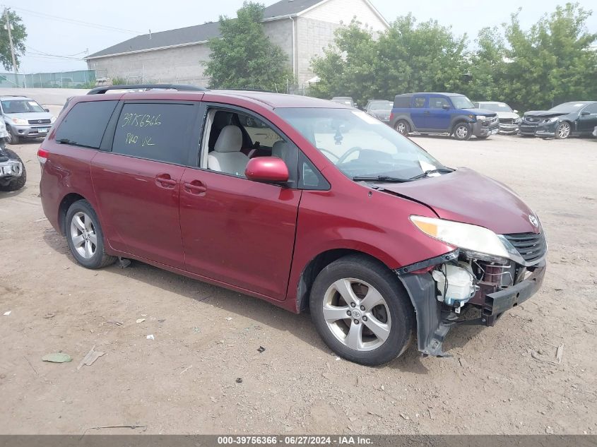
<path id="1" fill-rule="evenodd" d="M 205 73 L 211 88 L 257 88 L 283 92 L 294 83 L 288 56 L 264 32 L 264 5 L 245 1 L 237 18 L 220 16 L 220 37 L 211 49 Z"/>

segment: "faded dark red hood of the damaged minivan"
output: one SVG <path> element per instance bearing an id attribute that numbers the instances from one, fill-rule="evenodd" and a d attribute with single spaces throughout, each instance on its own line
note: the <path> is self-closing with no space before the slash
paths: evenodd
<path id="1" fill-rule="evenodd" d="M 528 217 L 535 214 L 514 191 L 473 169 L 461 167 L 438 177 L 380 186 L 425 203 L 442 219 L 480 225 L 497 234 L 539 232 Z"/>

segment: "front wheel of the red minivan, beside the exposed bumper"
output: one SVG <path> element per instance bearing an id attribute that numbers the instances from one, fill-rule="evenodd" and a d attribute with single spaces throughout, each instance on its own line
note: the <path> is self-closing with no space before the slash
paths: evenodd
<path id="1" fill-rule="evenodd" d="M 368 366 L 401 356 L 415 314 L 398 278 L 366 256 L 350 255 L 321 270 L 309 299 L 317 332 L 333 352 Z"/>

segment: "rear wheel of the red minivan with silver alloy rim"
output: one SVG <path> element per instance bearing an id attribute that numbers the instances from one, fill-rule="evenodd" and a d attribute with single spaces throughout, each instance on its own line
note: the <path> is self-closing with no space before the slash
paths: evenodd
<path id="1" fill-rule="evenodd" d="M 88 201 L 76 201 L 69 207 L 64 228 L 69 249 L 81 266 L 95 269 L 116 262 L 115 256 L 105 253 L 100 220 Z"/>

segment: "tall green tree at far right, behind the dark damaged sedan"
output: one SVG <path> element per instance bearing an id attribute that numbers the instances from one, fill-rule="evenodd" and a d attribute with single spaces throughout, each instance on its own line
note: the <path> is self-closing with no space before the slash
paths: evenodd
<path id="1" fill-rule="evenodd" d="M 586 28 L 591 11 L 579 4 L 557 6 L 530 30 L 518 13 L 504 26 L 508 43 L 503 84 L 519 109 L 545 109 L 560 102 L 597 97 L 597 33 Z"/>

